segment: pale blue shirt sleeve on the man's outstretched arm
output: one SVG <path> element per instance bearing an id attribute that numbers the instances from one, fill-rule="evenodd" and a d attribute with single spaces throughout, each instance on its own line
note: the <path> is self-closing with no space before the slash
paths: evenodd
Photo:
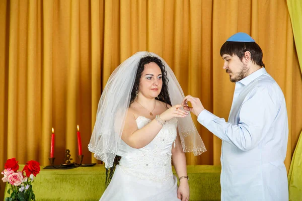
<path id="1" fill-rule="evenodd" d="M 221 140 L 247 151 L 256 147 L 268 132 L 280 108 L 278 105 L 268 88 L 254 88 L 242 104 L 238 125 L 225 122 L 207 110 L 197 120 Z"/>

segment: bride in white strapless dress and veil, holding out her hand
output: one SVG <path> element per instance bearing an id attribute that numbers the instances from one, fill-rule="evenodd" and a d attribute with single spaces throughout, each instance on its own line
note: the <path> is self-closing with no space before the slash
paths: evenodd
<path id="1" fill-rule="evenodd" d="M 89 144 L 106 167 L 100 200 L 189 200 L 185 152 L 206 149 L 177 105 L 183 98 L 173 71 L 154 53 L 137 52 L 114 70 Z"/>

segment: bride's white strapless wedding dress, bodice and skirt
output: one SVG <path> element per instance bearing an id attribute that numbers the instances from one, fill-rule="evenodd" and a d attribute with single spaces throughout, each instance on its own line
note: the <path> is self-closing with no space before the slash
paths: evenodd
<path id="1" fill-rule="evenodd" d="M 139 116 L 138 129 L 151 120 Z M 134 149 L 121 140 L 121 156 L 102 201 L 149 201 L 177 198 L 177 178 L 171 166 L 172 146 L 177 136 L 177 119 L 167 122 L 148 145 Z"/>

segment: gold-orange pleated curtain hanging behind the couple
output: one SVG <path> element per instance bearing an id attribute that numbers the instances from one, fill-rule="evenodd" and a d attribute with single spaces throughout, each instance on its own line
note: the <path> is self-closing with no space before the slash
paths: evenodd
<path id="1" fill-rule="evenodd" d="M 285 0 L 0 0 L 0 27 L 0 167 L 11 157 L 49 164 L 52 127 L 55 162 L 66 148 L 75 159 L 77 124 L 84 162 L 95 162 L 87 145 L 101 90 L 137 51 L 162 56 L 185 94 L 228 119 L 234 83 L 219 49 L 246 32 L 285 95 L 289 168 L 302 128 L 302 78 Z M 188 164 L 220 164 L 221 140 L 194 121 L 208 151 L 187 154 Z"/>

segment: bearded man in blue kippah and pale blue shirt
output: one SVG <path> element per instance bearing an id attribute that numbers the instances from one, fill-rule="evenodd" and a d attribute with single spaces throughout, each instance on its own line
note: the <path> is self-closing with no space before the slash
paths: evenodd
<path id="1" fill-rule="evenodd" d="M 221 200 L 288 200 L 283 163 L 288 123 L 282 90 L 266 72 L 262 50 L 248 34 L 231 36 L 220 55 L 223 69 L 235 82 L 229 121 L 205 110 L 197 97 L 186 96 L 183 105 L 222 140 Z"/>

